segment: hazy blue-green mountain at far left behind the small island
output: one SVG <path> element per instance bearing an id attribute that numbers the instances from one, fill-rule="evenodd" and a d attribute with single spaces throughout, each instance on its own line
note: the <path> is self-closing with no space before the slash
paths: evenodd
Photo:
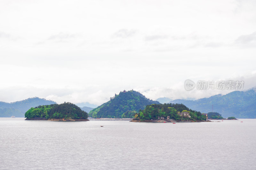
<path id="1" fill-rule="evenodd" d="M 25 112 L 31 107 L 48 104 L 55 104 L 55 102 L 38 97 L 13 103 L 0 102 L 0 117 L 11 117 L 12 115 L 15 117 L 24 117 Z"/>

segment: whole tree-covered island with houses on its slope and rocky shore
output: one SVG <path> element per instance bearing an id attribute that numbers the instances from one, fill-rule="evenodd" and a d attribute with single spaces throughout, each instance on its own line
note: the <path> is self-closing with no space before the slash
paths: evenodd
<path id="1" fill-rule="evenodd" d="M 151 104 L 135 113 L 132 122 L 206 122 L 207 117 L 184 104 Z"/>

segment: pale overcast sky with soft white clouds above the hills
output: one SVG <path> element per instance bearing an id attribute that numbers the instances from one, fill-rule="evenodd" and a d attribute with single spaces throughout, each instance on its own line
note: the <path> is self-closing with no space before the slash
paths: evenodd
<path id="1" fill-rule="evenodd" d="M 100 105 L 121 90 L 150 99 L 231 91 L 184 81 L 256 86 L 254 0 L 1 0 L 0 101 L 38 96 Z"/>

